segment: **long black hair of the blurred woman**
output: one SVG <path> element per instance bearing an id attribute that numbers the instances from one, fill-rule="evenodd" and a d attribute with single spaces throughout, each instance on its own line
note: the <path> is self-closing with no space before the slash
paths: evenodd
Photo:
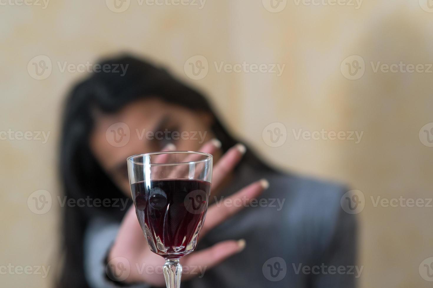
<path id="1" fill-rule="evenodd" d="M 74 85 L 66 99 L 61 134 L 60 174 L 63 192 L 68 199 L 126 199 L 90 151 L 89 136 L 93 129 L 95 109 L 109 114 L 116 113 L 133 101 L 150 96 L 158 97 L 194 111 L 212 114 L 214 121 L 211 130 L 221 141 L 224 152 L 237 143 L 216 117 L 206 98 L 197 90 L 175 79 L 166 70 L 130 55 L 105 59 L 99 63 L 101 67 L 108 64 L 112 68 L 123 65 L 127 67 L 126 73 L 123 75 L 119 68 L 117 71 L 120 73 L 114 70 L 90 73 L 87 79 Z M 243 161 L 270 169 L 250 152 L 250 149 L 247 149 Z M 125 210 L 103 206 L 97 208 L 66 205 L 62 213 L 64 264 L 57 286 L 89 287 L 83 268 L 83 237 L 87 224 L 97 215 L 120 222 Z"/>

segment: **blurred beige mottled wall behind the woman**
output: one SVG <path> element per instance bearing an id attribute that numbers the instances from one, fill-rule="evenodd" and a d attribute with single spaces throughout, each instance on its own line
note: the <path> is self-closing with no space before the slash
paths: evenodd
<path id="1" fill-rule="evenodd" d="M 0 266 L 50 270 L 46 278 L 43 272 L 2 273 L 2 287 L 50 287 L 59 265 L 57 201 L 42 215 L 27 206 L 36 190 L 61 193 L 56 166 L 61 104 L 85 73 L 62 72 L 58 65 L 96 63 L 120 51 L 148 57 L 203 89 L 229 128 L 268 161 L 362 191 L 361 287 L 431 287 L 427 280 L 433 277 L 423 264 L 433 257 L 432 203 L 375 207 L 374 202 L 378 196 L 432 198 L 433 3 L 275 0 L 274 8 L 267 0 L 190 0 L 179 6 L 126 0 L 117 2 L 120 8 L 113 0 L 19 3 L 3 0 L 0 6 L 0 130 L 50 134 L 46 143 L 9 136 L 0 141 Z M 40 55 L 49 58 L 52 71 L 38 80 L 33 63 L 39 65 Z M 207 65 L 202 62 L 204 72 L 197 76 L 202 79 L 194 80 L 188 67 L 198 59 Z M 266 69 L 285 66 L 280 76 L 218 71 L 221 63 L 244 61 Z M 414 73 L 381 66 L 400 62 L 422 66 Z M 300 129 L 363 134 L 355 143 L 343 136 L 299 138 Z M 272 135 L 275 143 L 268 130 L 280 135 Z"/>

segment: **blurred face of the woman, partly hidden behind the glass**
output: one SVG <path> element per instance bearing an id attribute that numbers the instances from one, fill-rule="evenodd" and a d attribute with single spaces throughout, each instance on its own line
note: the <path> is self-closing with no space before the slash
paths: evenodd
<path id="1" fill-rule="evenodd" d="M 197 151 L 214 137 L 212 121 L 209 114 L 155 98 L 143 99 L 115 114 L 97 116 L 90 149 L 108 176 L 129 195 L 126 158 L 160 151 L 169 143 L 179 151 Z"/>

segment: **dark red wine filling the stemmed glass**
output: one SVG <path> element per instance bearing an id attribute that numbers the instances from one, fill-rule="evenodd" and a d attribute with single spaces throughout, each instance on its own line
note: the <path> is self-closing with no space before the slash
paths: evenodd
<path id="1" fill-rule="evenodd" d="M 137 218 L 153 252 L 177 259 L 195 249 L 206 214 L 209 182 L 166 179 L 146 185 L 141 181 L 132 184 L 131 190 Z"/>

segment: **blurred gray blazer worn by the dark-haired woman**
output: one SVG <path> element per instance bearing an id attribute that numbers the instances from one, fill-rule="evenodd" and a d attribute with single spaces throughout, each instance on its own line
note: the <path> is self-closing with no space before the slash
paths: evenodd
<path id="1" fill-rule="evenodd" d="M 220 203 L 261 178 L 270 186 L 257 202 L 201 237 L 197 247 L 243 238 L 245 249 L 212 269 L 197 270 L 182 287 L 355 287 L 363 267 L 356 264 L 356 217 L 340 205 L 345 187 L 241 165 L 230 187 L 211 198 Z M 105 257 L 119 225 L 97 218 L 87 228 L 84 264 L 91 287 L 117 287 L 106 277 Z"/>

